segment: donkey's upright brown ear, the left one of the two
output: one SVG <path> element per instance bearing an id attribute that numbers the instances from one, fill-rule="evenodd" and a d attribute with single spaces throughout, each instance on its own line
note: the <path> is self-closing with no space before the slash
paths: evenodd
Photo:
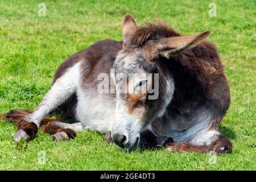
<path id="1" fill-rule="evenodd" d="M 133 16 L 127 14 L 123 19 L 123 46 L 125 47 L 128 36 L 137 28 L 137 24 Z"/>

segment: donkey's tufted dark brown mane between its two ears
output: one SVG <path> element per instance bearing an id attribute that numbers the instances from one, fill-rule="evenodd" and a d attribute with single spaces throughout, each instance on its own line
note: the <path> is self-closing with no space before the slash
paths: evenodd
<path id="1" fill-rule="evenodd" d="M 158 20 L 158 24 L 145 23 L 144 27 L 137 27 L 130 35 L 130 43 L 143 46 L 148 40 L 158 40 L 174 36 L 181 36 L 172 27 L 168 26 L 162 20 Z"/>

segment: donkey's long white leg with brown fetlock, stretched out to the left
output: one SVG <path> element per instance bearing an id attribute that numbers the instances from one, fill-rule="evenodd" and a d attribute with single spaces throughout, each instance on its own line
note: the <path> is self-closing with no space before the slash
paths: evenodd
<path id="1" fill-rule="evenodd" d="M 23 119 L 18 126 L 19 131 L 14 135 L 16 142 L 21 138 L 30 140 L 35 137 L 42 119 L 76 92 L 79 81 L 79 65 L 79 63 L 75 64 L 58 78 L 36 110 Z"/>

